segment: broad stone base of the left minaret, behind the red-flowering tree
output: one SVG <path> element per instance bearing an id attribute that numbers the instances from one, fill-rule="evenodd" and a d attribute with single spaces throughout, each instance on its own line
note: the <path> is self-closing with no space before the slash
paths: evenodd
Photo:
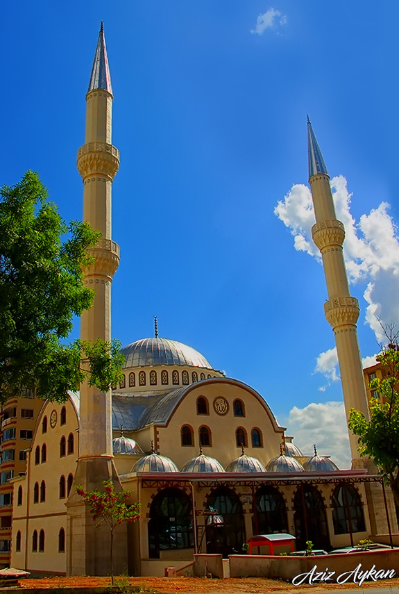
<path id="1" fill-rule="evenodd" d="M 67 502 L 67 575 L 111 575 L 110 530 L 103 523 L 96 528 L 89 508 L 76 493 L 80 486 L 87 491 L 103 491 L 103 481 L 112 481 L 114 489 L 122 490 L 110 456 L 78 460 L 74 484 Z M 114 575 L 126 575 L 128 541 L 126 525 L 114 530 Z"/>

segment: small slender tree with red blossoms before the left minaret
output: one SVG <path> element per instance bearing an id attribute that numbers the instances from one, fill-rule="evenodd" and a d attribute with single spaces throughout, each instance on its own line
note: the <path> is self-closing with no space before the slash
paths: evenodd
<path id="1" fill-rule="evenodd" d="M 133 495 L 133 491 L 121 491 L 115 493 L 114 485 L 111 481 L 104 481 L 104 493 L 99 490 L 86 491 L 80 486 L 76 487 L 76 493 L 83 497 L 85 504 L 89 506 L 90 513 L 95 522 L 95 527 L 99 528 L 104 522 L 110 530 L 110 561 L 111 561 L 111 581 L 114 584 L 114 557 L 113 543 L 114 530 L 117 526 L 124 523 L 135 522 L 139 520 L 139 503 L 127 504 L 127 500 Z"/>

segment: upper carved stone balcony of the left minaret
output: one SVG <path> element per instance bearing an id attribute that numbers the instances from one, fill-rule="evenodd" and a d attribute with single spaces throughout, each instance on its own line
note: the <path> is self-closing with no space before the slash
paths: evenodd
<path id="1" fill-rule="evenodd" d="M 107 142 L 89 142 L 78 150 L 76 162 L 80 175 L 105 175 L 112 181 L 119 168 L 119 151 Z"/>

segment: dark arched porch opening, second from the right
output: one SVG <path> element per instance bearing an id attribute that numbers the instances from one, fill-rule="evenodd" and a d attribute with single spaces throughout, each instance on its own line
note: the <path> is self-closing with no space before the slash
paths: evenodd
<path id="1" fill-rule="evenodd" d="M 294 497 L 296 549 L 306 549 L 312 541 L 315 549 L 330 549 L 323 497 L 313 485 L 301 484 Z"/>

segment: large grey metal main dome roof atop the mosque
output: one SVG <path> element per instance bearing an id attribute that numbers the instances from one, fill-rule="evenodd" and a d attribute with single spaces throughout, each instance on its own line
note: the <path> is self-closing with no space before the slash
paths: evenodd
<path id="1" fill-rule="evenodd" d="M 196 349 L 169 338 L 142 338 L 127 345 L 121 352 L 126 357 L 126 369 L 148 365 L 189 365 L 213 369 Z"/>

